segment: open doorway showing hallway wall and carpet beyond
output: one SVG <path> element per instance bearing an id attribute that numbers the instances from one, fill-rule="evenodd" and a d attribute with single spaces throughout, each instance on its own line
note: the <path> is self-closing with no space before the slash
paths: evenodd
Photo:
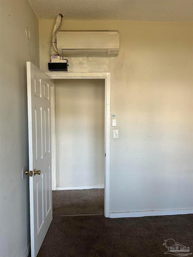
<path id="1" fill-rule="evenodd" d="M 63 79 L 54 84 L 53 215 L 104 215 L 105 80 Z"/>

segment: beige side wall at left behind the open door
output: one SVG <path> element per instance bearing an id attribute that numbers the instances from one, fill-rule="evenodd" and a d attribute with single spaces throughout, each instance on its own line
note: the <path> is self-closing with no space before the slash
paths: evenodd
<path id="1" fill-rule="evenodd" d="M 27 0 L 1 0 L 0 12 L 0 256 L 21 257 L 30 243 L 26 61 L 39 66 L 38 19 Z"/>

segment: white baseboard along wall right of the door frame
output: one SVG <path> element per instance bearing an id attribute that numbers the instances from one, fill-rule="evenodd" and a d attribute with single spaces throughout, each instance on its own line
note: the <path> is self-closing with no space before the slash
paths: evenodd
<path id="1" fill-rule="evenodd" d="M 157 211 L 139 211 L 139 212 L 110 212 L 109 218 L 130 218 L 130 217 L 177 215 L 177 214 L 192 214 L 192 213 L 193 213 L 193 209 L 157 210 Z"/>

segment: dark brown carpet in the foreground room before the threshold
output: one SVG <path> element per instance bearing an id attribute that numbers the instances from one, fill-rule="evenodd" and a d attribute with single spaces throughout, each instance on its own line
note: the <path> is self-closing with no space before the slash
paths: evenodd
<path id="1" fill-rule="evenodd" d="M 169 238 L 193 252 L 193 215 L 53 217 L 37 257 L 164 257 Z M 189 255 L 192 256 L 192 255 Z"/>

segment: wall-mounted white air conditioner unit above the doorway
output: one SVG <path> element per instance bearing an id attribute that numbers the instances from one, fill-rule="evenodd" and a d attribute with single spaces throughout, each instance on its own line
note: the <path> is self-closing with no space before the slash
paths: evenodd
<path id="1" fill-rule="evenodd" d="M 119 53 L 119 31 L 63 31 L 56 33 L 60 56 L 110 57 Z"/>

